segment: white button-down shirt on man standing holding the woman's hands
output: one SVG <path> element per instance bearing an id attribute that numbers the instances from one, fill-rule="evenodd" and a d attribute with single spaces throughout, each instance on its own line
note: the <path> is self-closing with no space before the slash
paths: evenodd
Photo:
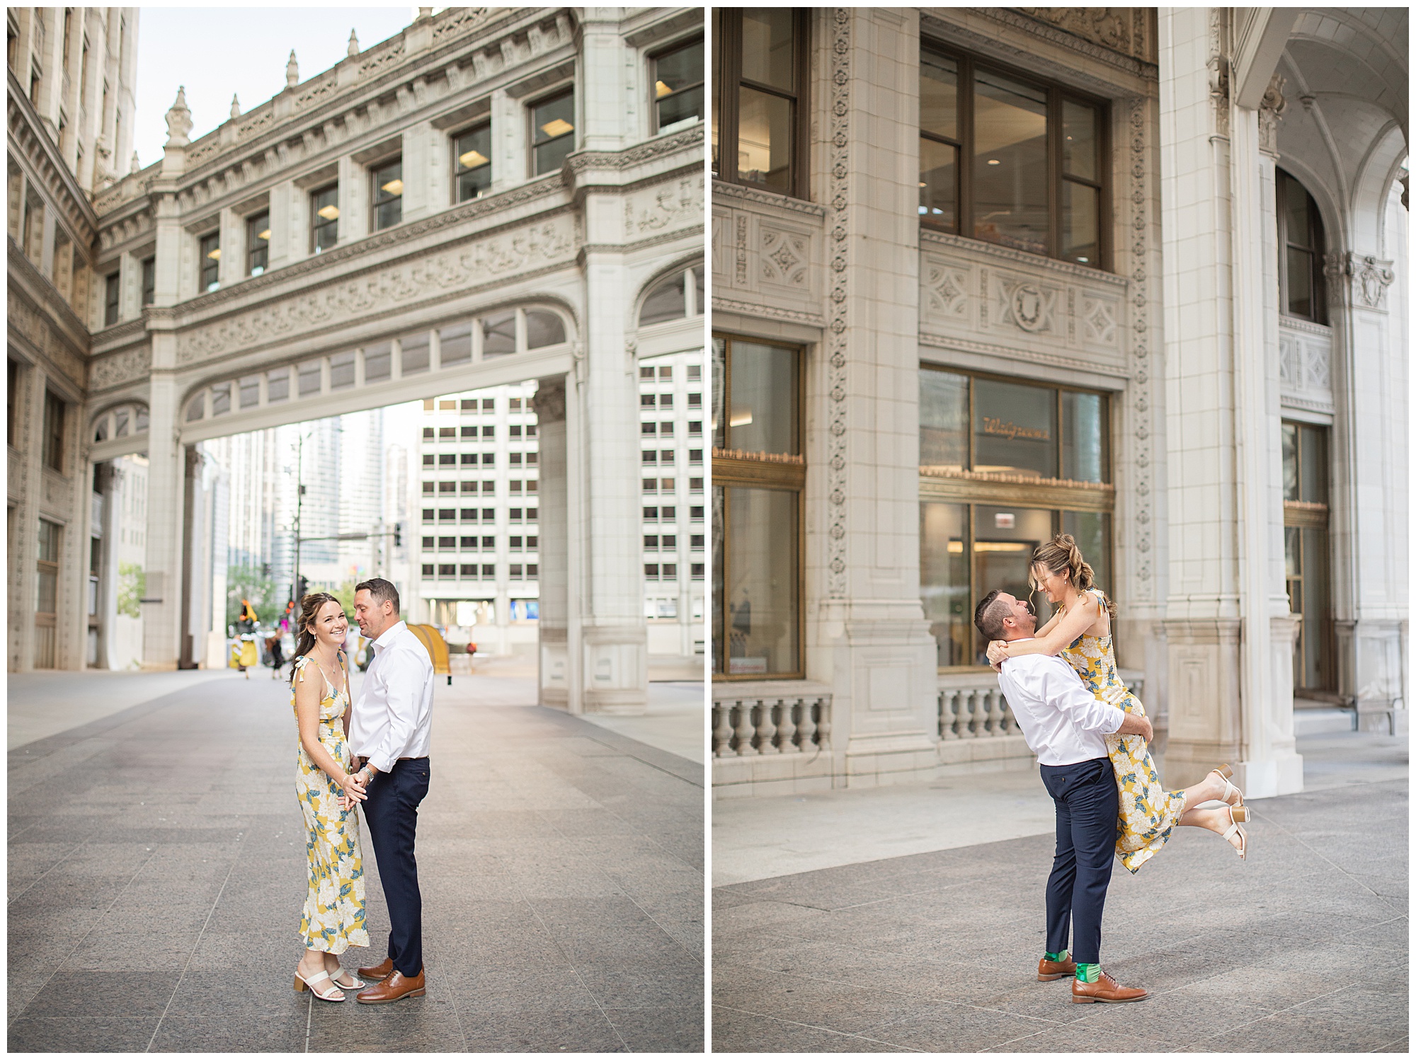
<path id="1" fill-rule="evenodd" d="M 388 773 L 399 759 L 428 754 L 433 661 L 402 621 L 384 630 L 371 647 L 374 661 L 350 716 L 350 749 L 379 773 Z"/>

